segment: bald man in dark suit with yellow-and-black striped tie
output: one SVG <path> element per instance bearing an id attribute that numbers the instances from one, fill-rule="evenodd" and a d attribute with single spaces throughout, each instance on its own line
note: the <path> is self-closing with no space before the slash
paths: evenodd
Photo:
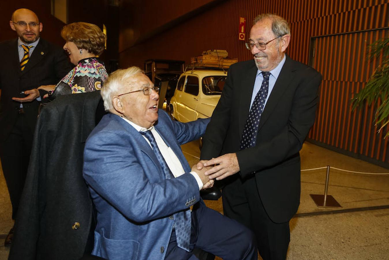
<path id="1" fill-rule="evenodd" d="M 10 26 L 18 39 L 0 43 L 0 158 L 15 219 L 38 115 L 37 88 L 58 83 L 72 67 L 59 47 L 40 39 L 43 25 L 31 10 L 16 10 Z M 12 229 L 6 246 L 11 239 Z"/>

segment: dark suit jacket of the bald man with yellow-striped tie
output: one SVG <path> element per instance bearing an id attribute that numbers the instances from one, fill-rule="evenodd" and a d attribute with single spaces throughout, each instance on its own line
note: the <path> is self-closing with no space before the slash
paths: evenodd
<path id="1" fill-rule="evenodd" d="M 18 39 L 0 43 L 2 62 L 0 63 L 0 140 L 5 139 L 16 121 L 20 106 L 12 97 L 25 97 L 20 91 L 41 85 L 57 84 L 72 66 L 60 47 L 40 39 L 25 69 L 20 70 Z M 24 102 L 25 115 L 31 129 L 35 128 L 39 102 Z"/>

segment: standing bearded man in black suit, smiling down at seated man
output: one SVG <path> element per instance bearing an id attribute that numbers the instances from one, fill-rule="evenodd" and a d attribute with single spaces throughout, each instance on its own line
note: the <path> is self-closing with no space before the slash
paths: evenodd
<path id="1" fill-rule="evenodd" d="M 317 71 L 284 53 L 290 37 L 279 16 L 254 20 L 246 44 L 254 60 L 231 65 L 198 164 L 215 165 L 205 174 L 224 179 L 224 214 L 254 231 L 265 260 L 286 258 L 289 220 L 300 203 L 299 151 L 321 82 Z"/>

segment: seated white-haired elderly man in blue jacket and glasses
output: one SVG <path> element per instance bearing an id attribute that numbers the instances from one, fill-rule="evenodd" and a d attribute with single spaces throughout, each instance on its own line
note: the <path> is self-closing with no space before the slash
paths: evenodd
<path id="1" fill-rule="evenodd" d="M 204 134 L 209 119 L 172 121 L 138 67 L 112 73 L 101 90 L 106 114 L 86 141 L 84 178 L 96 206 L 92 254 L 120 259 L 257 259 L 251 231 L 209 209 L 204 167 L 189 167 L 180 145 Z M 191 209 L 191 206 L 192 209 Z"/>

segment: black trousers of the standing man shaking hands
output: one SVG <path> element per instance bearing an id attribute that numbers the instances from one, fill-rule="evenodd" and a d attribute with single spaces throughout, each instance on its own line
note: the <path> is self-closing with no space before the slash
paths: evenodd
<path id="1" fill-rule="evenodd" d="M 273 222 L 261 202 L 255 177 L 242 182 L 230 178 L 222 190 L 224 215 L 254 231 L 258 251 L 264 260 L 284 260 L 290 241 L 289 221 Z"/>

